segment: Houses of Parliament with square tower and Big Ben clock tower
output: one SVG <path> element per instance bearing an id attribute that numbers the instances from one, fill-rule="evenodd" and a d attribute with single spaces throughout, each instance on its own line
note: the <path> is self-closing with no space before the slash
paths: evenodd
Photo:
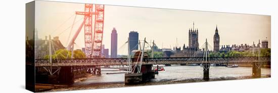
<path id="1" fill-rule="evenodd" d="M 203 57 L 203 51 L 204 49 L 199 49 L 199 41 L 198 41 L 198 28 L 189 29 L 189 43 L 188 46 L 186 44 L 183 44 L 182 49 L 179 47 L 174 47 L 174 51 L 171 52 L 171 54 L 168 57 Z M 221 47 L 221 48 L 220 48 Z M 268 49 L 268 40 L 262 40 L 258 42 L 257 45 L 253 42 L 253 45 L 248 44 L 232 44 L 230 45 L 221 45 L 220 46 L 220 35 L 218 33 L 218 28 L 216 25 L 214 36 L 213 36 L 213 50 L 210 50 L 210 52 L 220 52 L 220 53 L 226 53 L 228 51 L 238 51 L 238 52 L 244 52 L 244 51 L 252 51 L 253 49 L 257 50 L 260 49 Z"/>

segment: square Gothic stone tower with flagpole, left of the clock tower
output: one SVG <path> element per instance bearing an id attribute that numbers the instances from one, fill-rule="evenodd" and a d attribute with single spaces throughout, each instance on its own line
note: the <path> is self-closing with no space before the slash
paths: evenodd
<path id="1" fill-rule="evenodd" d="M 194 29 L 193 23 L 193 30 L 192 28 L 189 29 L 189 49 L 191 50 L 199 50 L 199 42 L 198 42 L 198 29 Z"/>

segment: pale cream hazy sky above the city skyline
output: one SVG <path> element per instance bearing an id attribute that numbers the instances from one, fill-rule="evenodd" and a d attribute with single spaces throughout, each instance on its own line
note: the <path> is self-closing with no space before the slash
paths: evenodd
<path id="1" fill-rule="evenodd" d="M 81 15 L 76 16 L 76 24 L 69 37 L 75 12 L 84 11 L 84 4 L 36 1 L 35 11 L 38 37 L 44 39 L 48 35 L 59 36 L 63 45 L 67 46 L 68 38 L 72 38 L 83 18 Z M 146 37 L 147 41 L 155 40 L 158 48 L 162 47 L 162 43 L 163 48 L 172 48 L 176 45 L 176 38 L 178 46 L 182 47 L 183 43 L 188 46 L 188 32 L 193 27 L 193 22 L 199 30 L 200 46 L 206 38 L 213 46 L 216 25 L 220 45 L 252 45 L 253 41 L 257 44 L 259 39 L 267 39 L 268 46 L 271 46 L 270 16 L 108 5 L 105 6 L 103 44 L 109 49 L 110 55 L 111 32 L 115 27 L 118 33 L 118 54 L 127 54 L 127 46 L 121 46 L 127 41 L 128 33 L 133 30 L 139 33 L 139 39 Z M 74 48 L 84 47 L 83 29 L 75 43 Z"/>

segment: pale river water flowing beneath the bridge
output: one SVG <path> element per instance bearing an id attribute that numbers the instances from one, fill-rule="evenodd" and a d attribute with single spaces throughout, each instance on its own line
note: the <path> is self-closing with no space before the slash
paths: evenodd
<path id="1" fill-rule="evenodd" d="M 119 69 L 102 70 L 102 75 L 91 76 L 80 81 L 74 82 L 72 86 L 54 88 L 50 91 L 75 90 L 75 89 L 96 89 L 96 88 L 112 88 L 140 85 L 157 85 L 172 83 L 201 82 L 203 80 L 203 67 L 201 66 L 164 66 L 165 71 L 159 71 L 155 78 L 150 82 L 125 85 L 124 73 Z M 115 74 L 113 74 L 115 73 Z M 270 77 L 270 68 L 261 68 L 261 77 Z M 209 81 L 216 80 L 235 80 L 249 79 L 252 77 L 252 67 L 236 67 L 227 68 L 224 66 L 211 66 L 209 70 Z"/>

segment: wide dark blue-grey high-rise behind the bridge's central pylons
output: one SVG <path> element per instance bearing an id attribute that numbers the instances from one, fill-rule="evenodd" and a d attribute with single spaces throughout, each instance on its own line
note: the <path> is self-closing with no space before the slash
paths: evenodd
<path id="1" fill-rule="evenodd" d="M 139 34 L 136 31 L 129 32 L 129 48 L 130 52 L 133 50 L 138 50 Z"/>

